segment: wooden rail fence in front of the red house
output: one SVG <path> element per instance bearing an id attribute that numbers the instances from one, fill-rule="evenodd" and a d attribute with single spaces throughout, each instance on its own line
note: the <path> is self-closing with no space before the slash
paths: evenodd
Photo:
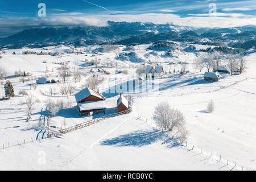
<path id="1" fill-rule="evenodd" d="M 65 128 L 65 129 L 60 129 L 60 130 L 57 130 L 57 131 L 49 132 L 47 137 L 48 138 L 56 137 L 56 136 L 59 136 L 59 135 L 65 134 L 65 133 L 69 133 L 69 132 L 77 130 L 77 129 L 81 129 L 81 128 L 86 127 L 86 126 L 93 125 L 94 123 L 103 121 L 104 119 L 112 118 L 112 117 L 115 117 L 115 116 L 118 116 L 118 115 L 121 115 L 121 114 L 130 113 L 130 112 L 131 112 L 131 105 L 130 105 L 130 109 L 127 109 L 125 111 L 121 111 L 119 113 L 104 115 L 103 117 L 92 119 L 90 121 L 86 121 L 86 122 L 77 124 L 75 126 L 71 126 L 71 127 Z"/>

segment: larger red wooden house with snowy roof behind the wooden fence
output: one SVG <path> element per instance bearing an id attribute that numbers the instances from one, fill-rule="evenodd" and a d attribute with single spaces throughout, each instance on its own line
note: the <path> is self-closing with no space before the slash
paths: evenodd
<path id="1" fill-rule="evenodd" d="M 105 98 L 95 90 L 86 87 L 76 93 L 75 98 L 81 115 L 105 113 Z"/>

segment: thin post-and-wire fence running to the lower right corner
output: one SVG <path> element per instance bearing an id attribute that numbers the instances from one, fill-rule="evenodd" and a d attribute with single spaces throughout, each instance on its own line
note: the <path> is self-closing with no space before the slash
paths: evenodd
<path id="1" fill-rule="evenodd" d="M 148 125 L 150 125 L 151 127 L 153 127 L 155 130 L 158 130 L 160 132 L 164 132 L 167 130 L 164 130 L 160 127 L 158 127 L 155 122 L 152 122 L 150 119 L 145 118 L 144 115 L 140 115 L 138 114 L 138 118 L 141 121 L 144 121 L 146 123 L 148 123 Z M 171 139 L 173 140 L 177 140 L 178 137 L 175 135 L 171 135 Z M 222 156 L 223 155 L 217 155 L 215 151 L 212 150 L 207 150 L 203 147 L 199 147 L 199 146 L 195 146 L 194 144 L 190 144 L 187 141 L 183 142 L 183 143 L 179 143 L 181 147 L 186 148 L 188 151 L 196 151 L 199 152 L 199 155 L 205 155 L 207 156 L 206 159 L 203 160 L 209 160 L 209 165 L 214 164 L 214 163 L 222 163 L 223 166 L 221 166 L 219 169 L 221 168 L 230 168 L 230 171 L 233 170 L 238 170 L 238 171 L 255 171 L 255 169 L 253 168 L 247 168 L 245 166 L 243 166 L 242 164 L 238 164 L 236 162 L 236 160 L 229 160 L 229 159 L 224 159 Z M 201 161 L 203 161 L 201 160 Z"/>

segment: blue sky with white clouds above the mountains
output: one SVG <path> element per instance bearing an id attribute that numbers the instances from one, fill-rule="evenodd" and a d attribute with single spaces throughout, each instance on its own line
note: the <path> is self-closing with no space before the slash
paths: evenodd
<path id="1" fill-rule="evenodd" d="M 46 17 L 38 16 L 38 4 L 41 2 L 46 4 Z M 210 3 L 216 4 L 217 17 L 209 17 Z M 255 24 L 255 17 L 256 0 L 1 0 L 0 37 L 30 27 L 107 26 L 107 20 L 232 27 Z"/>

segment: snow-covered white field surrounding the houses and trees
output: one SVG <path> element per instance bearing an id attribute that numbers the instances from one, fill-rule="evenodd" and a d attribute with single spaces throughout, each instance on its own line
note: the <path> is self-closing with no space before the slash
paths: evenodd
<path id="1" fill-rule="evenodd" d="M 163 56 L 164 51 L 146 51 L 148 45 L 135 47 L 135 55 L 129 60 L 115 59 L 116 53 L 124 52 L 120 47 L 118 52 L 102 53 L 97 55 L 100 63 L 109 64 L 107 69 L 112 74 L 106 75 L 105 81 L 99 86 L 100 92 L 108 90 L 109 85 L 115 86 L 127 80 L 136 78 L 135 68 L 143 61 L 154 60 L 164 66 L 168 73 L 174 69 L 180 70 L 181 65 L 169 65 L 170 61 L 177 60 L 192 63 L 196 57 L 193 52 L 176 51 L 173 57 Z M 199 49 L 197 45 L 197 49 Z M 96 47 L 91 47 L 95 49 Z M 84 60 L 95 59 L 92 53 L 75 54 L 65 53 L 69 47 L 52 48 L 53 52 L 64 52 L 61 57 L 50 55 L 22 55 L 22 49 L 6 50 L 1 54 L 0 65 L 5 68 L 7 76 L 13 76 L 19 69 L 32 73 L 32 76 L 43 76 L 46 65 L 48 73 L 57 74 L 59 64 L 68 62 L 71 67 L 80 68 L 85 75 L 89 70 L 96 69 L 88 66 Z M 15 51 L 16 55 L 12 55 Z M 33 49 L 40 52 L 43 49 Z M 82 49 L 82 51 L 84 51 Z M 148 57 L 148 58 L 147 58 Z M 72 126 L 86 120 L 100 117 L 79 117 L 77 114 L 75 97 L 61 96 L 58 91 L 63 81 L 56 84 L 39 85 L 36 90 L 31 88 L 32 81 L 20 82 L 19 78 L 9 78 L 14 85 L 15 97 L 11 100 L 0 101 L 0 169 L 154 169 L 154 170 L 230 170 L 237 162 L 235 170 L 252 170 L 256 167 L 256 53 L 246 56 L 247 69 L 241 75 L 222 76 L 218 82 L 204 81 L 202 72 L 195 72 L 188 64 L 189 73 L 179 76 L 172 73 L 171 77 L 164 76 L 157 80 L 158 85 L 153 93 L 131 93 L 133 111 L 130 114 L 106 119 L 100 123 L 72 131 L 61 137 L 45 139 L 46 131 L 46 101 L 65 100 L 72 106 L 59 110 L 56 117 L 51 118 L 51 131 L 65 125 Z M 47 63 L 43 63 L 46 61 Z M 113 67 L 110 63 L 113 63 Z M 116 68 L 117 67 L 117 68 Z M 115 74 L 115 69 L 127 69 L 129 75 Z M 168 75 L 168 74 L 167 74 Z M 81 89 L 86 76 L 80 82 L 73 82 L 69 77 L 67 84 L 71 84 L 74 93 Z M 148 81 L 142 83 L 146 85 Z M 3 84 L 5 80 L 3 80 Z M 49 86 L 56 87 L 56 94 L 49 94 Z M 135 91 L 140 86 L 135 85 Z M 19 90 L 27 90 L 40 100 L 32 110 L 30 123 L 26 122 L 27 113 L 24 98 L 18 94 Z M 4 96 L 3 85 L 0 87 L 0 96 Z M 123 92 L 126 96 L 128 93 Z M 107 113 L 113 113 L 118 92 L 104 94 Z M 206 111 L 210 100 L 214 101 L 213 113 Z M 175 109 L 179 109 L 185 116 L 189 130 L 188 147 L 179 146 L 171 139 L 172 134 L 166 131 L 155 130 L 152 118 L 154 106 L 160 101 L 167 101 Z M 141 116 L 141 119 L 138 118 Z M 147 119 L 147 123 L 145 122 Z M 41 122 L 42 126 L 38 127 Z M 44 139 L 42 139 L 44 138 Z M 39 141 L 39 139 L 42 139 Z M 25 141 L 24 141 L 25 140 Z M 34 142 L 31 142 L 31 141 Z M 26 144 L 23 144 L 23 143 Z M 30 143 L 28 143 L 30 142 Z M 17 144 L 20 145 L 17 145 Z M 4 146 L 3 146 L 4 144 Z M 7 146 L 12 147 L 7 147 Z M 14 146 L 15 145 L 15 146 Z M 192 146 L 195 146 L 191 150 Z M 5 147 L 5 148 L 3 148 Z M 7 147 L 7 148 L 6 148 Z M 2 149 L 3 148 L 3 149 Z M 203 154 L 200 154 L 202 148 Z M 210 152 L 214 158 L 209 158 Z M 221 155 L 221 162 L 218 158 Z M 46 163 L 42 163 L 46 156 Z M 44 159 L 44 158 L 43 158 Z M 229 165 L 226 165 L 229 160 Z M 44 161 L 44 160 L 43 160 Z"/>

